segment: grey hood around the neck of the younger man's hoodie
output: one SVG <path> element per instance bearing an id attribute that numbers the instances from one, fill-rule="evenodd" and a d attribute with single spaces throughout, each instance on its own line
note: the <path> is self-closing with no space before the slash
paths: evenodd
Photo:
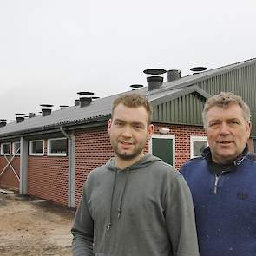
<path id="1" fill-rule="evenodd" d="M 162 160 L 159 157 L 156 157 L 150 153 L 147 153 L 139 161 L 136 161 L 134 164 L 126 167 L 125 169 L 128 169 L 130 172 L 139 171 L 141 168 L 147 167 L 148 165 L 152 164 L 155 161 L 162 161 Z M 112 171 L 115 171 L 116 169 L 119 170 L 118 167 L 115 167 L 115 157 L 111 158 L 107 162 L 106 167 Z"/>

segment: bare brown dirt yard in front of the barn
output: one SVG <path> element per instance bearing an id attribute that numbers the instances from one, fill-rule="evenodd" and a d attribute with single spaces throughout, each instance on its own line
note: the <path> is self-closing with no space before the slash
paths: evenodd
<path id="1" fill-rule="evenodd" d="M 74 215 L 46 200 L 0 190 L 0 255 L 72 255 Z"/>

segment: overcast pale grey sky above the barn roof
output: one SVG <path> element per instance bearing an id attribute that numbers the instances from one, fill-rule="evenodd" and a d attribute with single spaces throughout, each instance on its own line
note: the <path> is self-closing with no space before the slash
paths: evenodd
<path id="1" fill-rule="evenodd" d="M 0 0 L 0 118 L 256 57 L 255 0 Z"/>

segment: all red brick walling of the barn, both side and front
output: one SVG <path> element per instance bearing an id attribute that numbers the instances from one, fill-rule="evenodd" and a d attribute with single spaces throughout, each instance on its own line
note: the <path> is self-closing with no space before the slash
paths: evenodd
<path id="1" fill-rule="evenodd" d="M 160 128 L 169 128 L 169 135 L 174 135 L 175 168 L 178 170 L 190 159 L 190 137 L 206 136 L 202 127 L 167 123 L 154 123 L 154 134 L 160 134 Z M 252 140 L 248 141 L 248 145 L 252 151 Z M 46 152 L 47 140 L 43 156 L 28 156 L 28 194 L 68 206 L 69 156 L 48 156 Z M 145 152 L 148 152 L 148 143 Z M 113 156 L 107 126 L 75 132 L 75 207 L 79 204 L 89 172 L 104 165 Z M 7 157 L 10 160 L 12 155 Z M 6 164 L 6 159 L 0 156 L 0 174 Z M 14 157 L 11 164 L 19 176 L 20 157 Z M 10 166 L 0 176 L 0 185 L 19 188 L 19 181 Z"/>

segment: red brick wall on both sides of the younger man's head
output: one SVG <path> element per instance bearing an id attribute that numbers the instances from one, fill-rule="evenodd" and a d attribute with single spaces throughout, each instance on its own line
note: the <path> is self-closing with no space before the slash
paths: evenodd
<path id="1" fill-rule="evenodd" d="M 201 127 L 185 125 L 154 124 L 154 133 L 159 128 L 170 128 L 170 135 L 175 135 L 175 167 L 190 158 L 190 135 L 204 136 Z M 145 148 L 148 152 L 148 144 Z M 78 206 L 82 186 L 89 172 L 102 166 L 114 155 L 109 142 L 107 127 L 84 129 L 75 134 L 75 207 Z"/>

